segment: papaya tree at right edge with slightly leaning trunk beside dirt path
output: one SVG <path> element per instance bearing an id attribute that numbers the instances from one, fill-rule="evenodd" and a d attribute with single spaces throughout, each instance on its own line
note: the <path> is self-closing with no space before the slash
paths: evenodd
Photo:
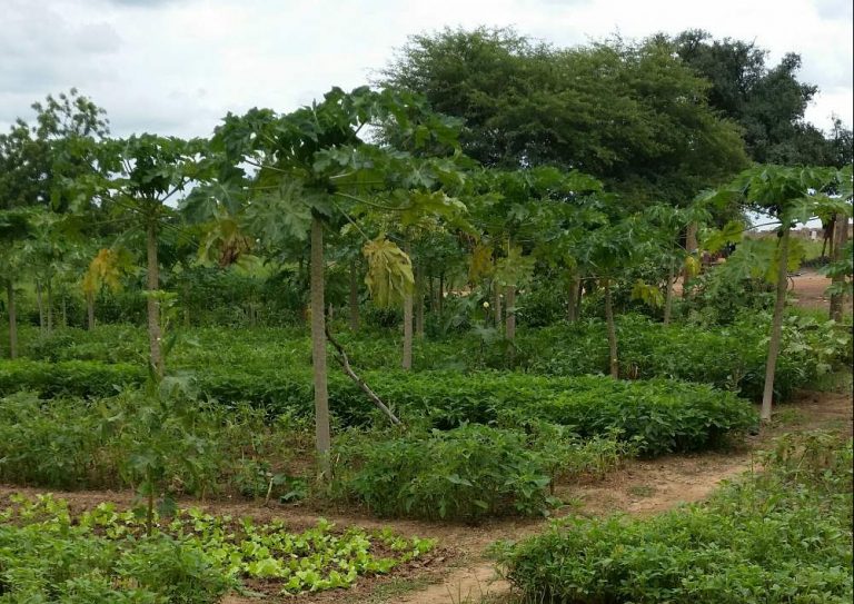
<path id="1" fill-rule="evenodd" d="M 771 420 L 774 398 L 774 376 L 783 335 L 787 274 L 791 266 L 792 227 L 820 215 L 851 216 L 851 198 L 838 195 L 840 191 L 851 190 L 851 167 L 837 170 L 756 166 L 742 172 L 727 186 L 701 196 L 704 202 L 713 204 L 729 204 L 733 199 L 741 199 L 746 208 L 772 216 L 779 222 L 776 231 L 776 253 L 771 270 L 776 283 L 776 297 L 762 396 L 761 418 L 764 422 Z"/>

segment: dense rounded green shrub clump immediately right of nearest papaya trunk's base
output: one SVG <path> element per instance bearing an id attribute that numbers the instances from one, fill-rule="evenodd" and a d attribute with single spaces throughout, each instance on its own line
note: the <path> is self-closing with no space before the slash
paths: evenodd
<path id="1" fill-rule="evenodd" d="M 336 496 L 380 516 L 471 522 L 547 509 L 549 476 L 516 430 L 468 425 L 379 443 L 351 437 L 334 459 Z"/>

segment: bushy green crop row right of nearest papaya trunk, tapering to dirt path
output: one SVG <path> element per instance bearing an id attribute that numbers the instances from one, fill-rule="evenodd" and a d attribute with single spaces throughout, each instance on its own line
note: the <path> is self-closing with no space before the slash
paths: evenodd
<path id="1" fill-rule="evenodd" d="M 544 515 L 557 478 L 603 477 L 635 454 L 613 432 L 580 440 L 559 426 L 525 433 L 466 425 L 397 438 L 347 434 L 332 456 L 331 495 L 380 516 L 477 522 Z"/>

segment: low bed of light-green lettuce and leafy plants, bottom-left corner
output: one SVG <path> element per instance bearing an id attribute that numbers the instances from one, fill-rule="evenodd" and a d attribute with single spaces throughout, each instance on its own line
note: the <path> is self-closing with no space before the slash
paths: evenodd
<path id="1" fill-rule="evenodd" d="M 321 519 L 294 533 L 197 508 L 158 519 L 149 535 L 112 504 L 72 516 L 50 495 L 12 496 L 0 512 L 0 603 L 203 604 L 252 580 L 274 593 L 317 592 L 389 573 L 433 547 L 390 531 L 337 531 Z"/>

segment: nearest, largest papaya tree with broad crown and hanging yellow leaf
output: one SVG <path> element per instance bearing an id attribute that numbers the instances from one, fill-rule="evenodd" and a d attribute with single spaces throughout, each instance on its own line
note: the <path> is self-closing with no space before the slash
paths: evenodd
<path id="1" fill-rule="evenodd" d="M 290 113 L 252 109 L 229 115 L 217 128 L 212 149 L 224 161 L 212 186 L 197 195 L 195 206 L 216 199 L 242 199 L 262 241 L 310 242 L 311 359 L 315 386 L 316 440 L 319 476 L 328 474 L 331 443 L 327 390 L 326 318 L 324 304 L 324 235 L 350 221 L 354 207 L 367 205 L 390 212 L 419 208 L 453 208 L 439 189 L 461 181 L 457 158 L 421 159 L 393 151 L 360 138 L 364 128 L 394 123 L 399 137 L 415 148 L 443 148 L 453 152 L 456 130 L 447 120 L 427 111 L 408 93 L 338 88 L 322 101 Z M 407 147 L 409 147 L 407 145 Z M 419 191 L 420 195 L 414 195 Z M 379 261 L 403 254 L 385 241 L 370 251 L 368 261 L 377 276 Z M 403 255 L 406 260 L 408 257 Z M 385 264 L 386 293 L 411 288 L 406 263 Z"/>

